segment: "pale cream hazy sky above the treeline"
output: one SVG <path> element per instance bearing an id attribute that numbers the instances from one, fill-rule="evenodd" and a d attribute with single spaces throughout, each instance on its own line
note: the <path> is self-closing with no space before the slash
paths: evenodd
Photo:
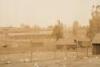
<path id="1" fill-rule="evenodd" d="M 74 20 L 88 24 L 92 4 L 93 0 L 0 0 L 0 26 L 47 26 L 57 19 L 67 26 Z"/>

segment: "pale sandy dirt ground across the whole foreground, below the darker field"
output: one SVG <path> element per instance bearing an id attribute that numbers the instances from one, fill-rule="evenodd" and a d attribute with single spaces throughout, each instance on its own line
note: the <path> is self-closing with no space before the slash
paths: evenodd
<path id="1" fill-rule="evenodd" d="M 0 67 L 100 67 L 100 56 L 76 52 L 36 52 L 0 55 Z"/>

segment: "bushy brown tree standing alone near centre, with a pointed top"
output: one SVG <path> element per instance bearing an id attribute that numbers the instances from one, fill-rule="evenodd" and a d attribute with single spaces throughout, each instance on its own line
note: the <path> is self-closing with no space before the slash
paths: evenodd
<path id="1" fill-rule="evenodd" d="M 63 38 L 63 24 L 58 20 L 58 24 L 54 26 L 52 36 L 59 40 L 60 38 Z"/>

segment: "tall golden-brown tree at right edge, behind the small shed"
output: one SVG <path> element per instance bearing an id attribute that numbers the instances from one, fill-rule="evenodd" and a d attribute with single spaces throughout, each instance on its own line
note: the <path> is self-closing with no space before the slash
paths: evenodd
<path id="1" fill-rule="evenodd" d="M 100 33 L 100 5 L 94 7 L 90 19 L 87 36 L 92 40 L 97 33 Z"/>

